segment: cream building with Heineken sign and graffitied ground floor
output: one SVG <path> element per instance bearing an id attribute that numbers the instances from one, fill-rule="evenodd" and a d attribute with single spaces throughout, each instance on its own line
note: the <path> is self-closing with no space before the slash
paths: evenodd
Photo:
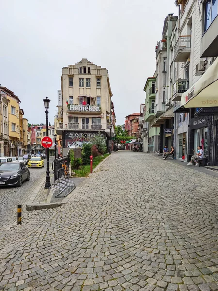
<path id="1" fill-rule="evenodd" d="M 106 68 L 82 59 L 62 69 L 56 132 L 62 135 L 63 148 L 81 147 L 96 135 L 104 137 L 109 148 L 116 121 L 111 97 Z"/>

